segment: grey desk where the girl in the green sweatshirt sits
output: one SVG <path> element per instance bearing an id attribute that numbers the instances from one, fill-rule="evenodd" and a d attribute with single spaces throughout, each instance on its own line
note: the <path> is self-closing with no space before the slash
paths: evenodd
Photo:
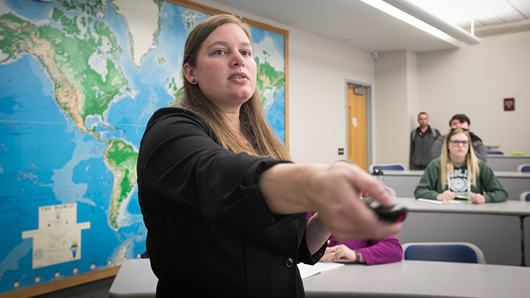
<path id="1" fill-rule="evenodd" d="M 457 205 L 436 205 L 414 198 L 396 198 L 396 203 L 409 210 L 396 235 L 401 244 L 470 242 L 483 251 L 487 264 L 524 264 L 522 218 L 530 215 L 529 202 L 475 205 L 464 201 Z"/>

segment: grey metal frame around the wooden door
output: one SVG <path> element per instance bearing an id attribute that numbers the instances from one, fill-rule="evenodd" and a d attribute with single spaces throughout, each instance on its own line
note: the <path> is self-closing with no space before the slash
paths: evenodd
<path id="1" fill-rule="evenodd" d="M 346 154 L 346 159 L 348 159 L 347 157 L 347 152 L 348 152 L 348 146 L 349 146 L 349 142 L 348 142 L 348 124 L 349 124 L 349 119 L 348 119 L 348 86 L 352 86 L 354 88 L 356 87 L 363 87 L 363 88 L 366 88 L 366 169 L 367 171 L 368 170 L 368 167 L 372 164 L 372 110 L 373 110 L 373 107 L 372 107 L 372 84 L 368 84 L 368 83 L 363 83 L 361 81 L 353 81 L 351 79 L 346 79 L 345 80 L 345 123 L 346 123 L 346 132 L 345 132 L 345 135 L 346 135 L 346 146 L 345 146 L 345 154 Z"/>

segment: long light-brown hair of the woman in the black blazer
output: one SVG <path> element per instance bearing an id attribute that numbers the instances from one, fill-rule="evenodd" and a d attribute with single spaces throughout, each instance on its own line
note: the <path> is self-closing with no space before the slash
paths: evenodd
<path id="1" fill-rule="evenodd" d="M 195 68 L 202 43 L 215 29 L 224 24 L 236 24 L 239 26 L 252 44 L 248 24 L 232 15 L 213 15 L 197 24 L 190 32 L 184 46 L 182 65 L 184 66 L 188 63 L 192 68 Z M 222 148 L 232 150 L 236 153 L 248 152 L 250 155 L 255 156 L 291 160 L 289 152 L 278 141 L 271 127 L 268 125 L 262 109 L 261 95 L 257 89 L 252 97 L 241 105 L 241 109 L 239 110 L 241 133 L 252 145 L 252 148 L 248 148 L 247 144 L 241 142 L 236 134 L 227 126 L 225 114 L 213 102 L 204 97 L 198 84 L 191 84 L 185 77 L 183 83 L 181 100 L 174 104 L 174 106 L 188 109 L 204 118 L 218 136 Z"/>

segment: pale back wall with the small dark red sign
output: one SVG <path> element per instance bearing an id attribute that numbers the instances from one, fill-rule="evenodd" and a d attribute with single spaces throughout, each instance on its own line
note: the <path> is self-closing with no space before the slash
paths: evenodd
<path id="1" fill-rule="evenodd" d="M 442 134 L 455 113 L 465 113 L 486 146 L 530 155 L 530 32 L 418 54 L 418 97 L 418 111 Z M 510 97 L 515 111 L 503 111 Z"/>

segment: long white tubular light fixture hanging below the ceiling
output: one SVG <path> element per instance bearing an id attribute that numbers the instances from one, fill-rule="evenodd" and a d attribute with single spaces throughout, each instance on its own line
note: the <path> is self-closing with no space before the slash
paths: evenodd
<path id="1" fill-rule="evenodd" d="M 377 8 L 384 13 L 388 13 L 397 19 L 411 24 L 418 29 L 421 29 L 432 36 L 440 38 L 449 42 L 451 45 L 460 47 L 460 41 L 466 42 L 469 45 L 476 45 L 480 42 L 480 38 L 472 36 L 464 29 L 432 15 L 432 13 L 419 8 L 414 3 L 407 0 L 361 0 L 368 5 Z M 391 4 L 392 5 L 391 5 Z"/>

